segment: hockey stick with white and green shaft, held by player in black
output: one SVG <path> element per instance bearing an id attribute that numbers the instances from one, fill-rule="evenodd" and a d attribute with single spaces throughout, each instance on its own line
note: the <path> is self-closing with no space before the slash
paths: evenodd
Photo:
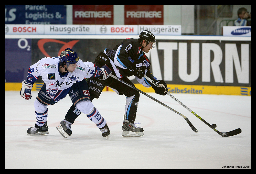
<path id="1" fill-rule="evenodd" d="M 147 77 L 146 75 L 144 76 L 149 82 L 153 83 L 154 85 L 158 86 L 159 85 L 157 83 L 155 83 L 153 80 L 151 80 L 149 77 Z M 178 99 L 176 99 L 172 94 L 170 94 L 169 92 L 167 92 L 167 94 L 172 97 L 173 100 L 175 100 L 176 102 L 178 102 L 180 105 L 182 105 L 183 107 L 185 107 L 189 112 L 191 112 L 193 115 L 195 115 L 197 118 L 199 118 L 202 122 L 204 122 L 207 126 L 209 126 L 210 128 L 212 128 L 213 130 L 215 130 L 215 132 L 217 132 L 219 135 L 221 135 L 222 137 L 230 137 L 233 135 L 237 135 L 240 134 L 242 132 L 242 130 L 240 128 L 235 129 L 235 130 L 231 130 L 230 132 L 219 132 L 217 129 L 215 129 L 216 124 L 210 125 L 209 123 L 207 123 L 204 119 L 202 119 L 199 115 L 197 115 L 194 111 L 192 111 L 189 107 L 187 107 L 185 104 L 183 104 L 182 102 L 180 102 Z"/>

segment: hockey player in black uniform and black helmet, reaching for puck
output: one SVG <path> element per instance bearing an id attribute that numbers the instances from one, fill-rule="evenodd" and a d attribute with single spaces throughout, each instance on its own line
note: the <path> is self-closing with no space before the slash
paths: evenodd
<path id="1" fill-rule="evenodd" d="M 144 30 L 140 33 L 138 39 L 127 38 L 113 49 L 105 48 L 105 50 L 96 57 L 93 62 L 96 66 L 101 67 L 107 65 L 112 74 L 123 81 L 134 85 L 127 77 L 135 76 L 136 80 L 145 87 L 154 88 L 155 92 L 160 95 L 167 94 L 167 85 L 163 80 L 157 80 L 150 72 L 151 62 L 145 55 L 150 49 L 156 45 L 155 36 L 152 32 Z M 145 53 L 144 53 L 145 52 Z M 148 82 L 144 75 L 155 81 L 160 87 Z M 143 136 L 143 128 L 134 124 L 140 93 L 131 87 L 113 79 L 112 77 L 106 80 L 99 78 L 87 79 L 91 101 L 94 98 L 99 98 L 105 86 L 109 86 L 119 95 L 126 96 L 126 105 L 124 113 L 124 122 L 122 126 L 122 136 Z M 65 118 L 69 122 L 74 123 L 74 120 L 79 116 L 73 112 L 76 110 L 72 105 L 66 114 Z"/>

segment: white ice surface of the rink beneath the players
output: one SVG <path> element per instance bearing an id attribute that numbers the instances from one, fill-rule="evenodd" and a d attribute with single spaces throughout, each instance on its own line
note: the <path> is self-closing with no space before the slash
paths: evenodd
<path id="1" fill-rule="evenodd" d="M 125 96 L 103 92 L 93 104 L 110 128 L 107 140 L 85 114 L 71 126 L 71 136 L 60 135 L 56 126 L 72 104 L 68 96 L 48 107 L 49 134 L 27 135 L 36 122 L 37 93 L 26 101 L 19 91 L 5 91 L 5 169 L 251 168 L 251 96 L 173 94 L 209 124 L 217 124 L 220 132 L 242 129 L 238 135 L 222 137 L 171 97 L 148 93 L 188 117 L 198 133 L 182 116 L 140 94 L 135 122 L 141 123 L 137 126 L 144 128 L 144 136 L 125 138 Z"/>

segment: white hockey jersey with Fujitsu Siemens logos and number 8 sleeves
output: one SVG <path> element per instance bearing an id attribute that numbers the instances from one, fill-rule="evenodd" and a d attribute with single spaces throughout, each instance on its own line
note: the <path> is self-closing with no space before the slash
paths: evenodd
<path id="1" fill-rule="evenodd" d="M 47 57 L 31 65 L 28 70 L 27 82 L 34 84 L 41 76 L 46 84 L 47 93 L 52 100 L 63 95 L 61 91 L 68 91 L 74 83 L 82 81 L 84 78 L 99 77 L 101 70 L 92 62 L 82 62 L 79 60 L 76 69 L 71 73 L 61 74 L 59 71 L 60 57 Z"/>

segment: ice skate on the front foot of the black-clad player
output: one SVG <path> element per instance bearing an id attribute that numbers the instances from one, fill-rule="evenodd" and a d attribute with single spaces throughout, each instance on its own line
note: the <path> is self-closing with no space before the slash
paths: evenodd
<path id="1" fill-rule="evenodd" d="M 144 135 L 143 128 L 136 126 L 138 123 L 130 123 L 128 120 L 124 120 L 123 123 L 123 137 L 141 137 Z"/>

